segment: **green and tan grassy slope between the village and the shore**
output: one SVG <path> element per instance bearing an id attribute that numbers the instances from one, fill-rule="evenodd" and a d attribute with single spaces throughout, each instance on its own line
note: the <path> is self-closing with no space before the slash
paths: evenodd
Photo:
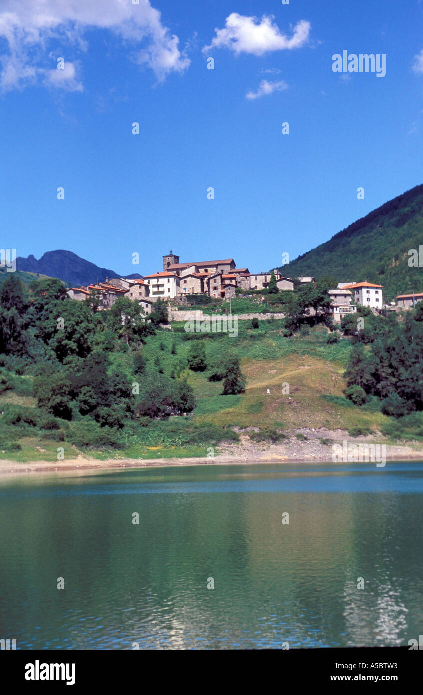
<path id="1" fill-rule="evenodd" d="M 322 327 L 311 329 L 308 336 L 283 338 L 281 327 L 282 322 L 275 320 L 260 322 L 260 328 L 254 330 L 251 322 L 243 321 L 238 338 L 223 335 L 204 339 L 208 365 L 228 352 L 240 357 L 242 372 L 247 378 L 246 392 L 224 396 L 222 382 L 208 380 L 209 369 L 204 373 L 188 370 L 187 357 L 192 341 L 184 339 L 183 324 L 174 324 L 174 331 L 160 331 L 151 336 L 143 352 L 147 371 L 154 368 L 154 361 L 159 357 L 166 376 L 176 372 L 188 379 L 197 400 L 192 417 L 174 417 L 165 423 L 155 423 L 154 427 L 142 427 L 139 436 L 128 441 L 128 448 L 113 451 L 104 448 L 79 450 L 67 441 L 52 441 L 54 432 L 49 434 L 34 427 L 24 430 L 7 427 L 0 417 L 0 459 L 57 461 L 58 447 L 64 448 L 65 461 L 79 453 L 98 459 L 204 457 L 210 446 L 219 450 L 218 442 L 222 440 L 224 428 L 227 431 L 231 427 L 282 428 L 288 437 L 295 437 L 300 427 L 380 432 L 389 418 L 380 412 L 356 407 L 343 396 L 343 374 L 351 343 L 342 340 L 328 345 L 327 332 Z M 176 354 L 172 354 L 173 345 Z M 133 380 L 129 353 L 113 353 L 110 359 L 111 368 L 122 370 Z M 17 387 L 0 393 L 0 413 L 4 411 L 7 417 L 10 407 L 19 405 L 38 413 L 32 397 L 32 377 L 14 379 Z M 289 384 L 289 393 L 286 384 Z M 10 445 L 11 441 L 12 444 L 19 442 L 19 449 Z"/>

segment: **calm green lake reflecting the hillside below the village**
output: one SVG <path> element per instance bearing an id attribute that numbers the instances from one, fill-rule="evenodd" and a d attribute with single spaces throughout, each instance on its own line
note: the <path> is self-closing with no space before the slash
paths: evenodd
<path id="1" fill-rule="evenodd" d="M 3 477 L 0 639 L 406 645 L 423 625 L 422 501 L 420 462 Z"/>

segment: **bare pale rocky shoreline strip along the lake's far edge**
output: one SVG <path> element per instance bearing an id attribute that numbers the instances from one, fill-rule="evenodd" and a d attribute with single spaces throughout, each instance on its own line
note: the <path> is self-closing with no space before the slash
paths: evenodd
<path id="1" fill-rule="evenodd" d="M 249 439 L 248 432 L 240 432 L 240 443 L 221 445 L 219 453 L 213 458 L 157 458 L 157 459 L 98 459 L 78 456 L 65 461 L 0 461 L 0 473 L 54 473 L 83 472 L 106 468 L 169 468 L 176 466 L 213 466 L 223 464 L 292 464 L 292 463 L 336 463 L 332 459 L 332 445 L 345 441 L 351 444 L 379 444 L 383 439 L 374 436 L 360 436 L 351 439 L 344 430 L 308 430 L 301 428 L 287 433 L 288 439 L 277 444 L 257 444 Z M 297 439 L 297 435 L 305 439 Z M 323 440 L 323 441 L 322 441 Z M 386 461 L 419 461 L 423 459 L 421 443 L 408 445 L 386 445 Z"/>

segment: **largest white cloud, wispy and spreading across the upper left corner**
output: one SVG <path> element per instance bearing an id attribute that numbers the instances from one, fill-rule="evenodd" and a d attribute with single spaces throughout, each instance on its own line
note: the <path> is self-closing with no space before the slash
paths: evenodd
<path id="1" fill-rule="evenodd" d="M 42 80 L 81 91 L 74 62 L 69 60 L 67 69 L 57 71 L 62 74 L 49 70 L 48 47 L 60 42 L 60 56 L 65 52 L 66 60 L 66 50 L 75 46 L 88 50 L 84 33 L 94 28 L 117 35 L 135 62 L 151 68 L 159 81 L 171 72 L 184 72 L 190 60 L 179 49 L 179 38 L 163 26 L 150 0 L 139 1 L 133 5 L 131 0 L 1 0 L 0 45 L 6 51 L 0 54 L 0 87 L 24 88 Z"/>

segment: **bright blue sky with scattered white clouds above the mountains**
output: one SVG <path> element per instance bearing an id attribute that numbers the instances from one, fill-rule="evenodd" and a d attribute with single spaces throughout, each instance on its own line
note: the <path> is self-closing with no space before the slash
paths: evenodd
<path id="1" fill-rule="evenodd" d="M 422 28 L 418 0 L 2 0 L 1 247 L 295 259 L 423 183 Z"/>

